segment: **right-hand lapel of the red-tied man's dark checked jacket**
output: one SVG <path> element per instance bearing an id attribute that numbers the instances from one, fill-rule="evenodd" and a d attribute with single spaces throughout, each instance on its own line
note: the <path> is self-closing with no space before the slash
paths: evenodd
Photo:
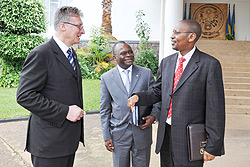
<path id="1" fill-rule="evenodd" d="M 182 76 L 175 88 L 175 92 L 184 84 L 184 82 L 198 69 L 198 62 L 200 61 L 199 50 L 196 49 L 191 59 L 189 60 Z"/>

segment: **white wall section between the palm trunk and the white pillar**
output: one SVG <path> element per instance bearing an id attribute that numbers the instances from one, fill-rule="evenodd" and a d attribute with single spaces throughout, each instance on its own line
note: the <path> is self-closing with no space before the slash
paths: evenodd
<path id="1" fill-rule="evenodd" d="M 160 40 L 160 0 L 113 0 L 113 36 L 118 40 L 139 40 L 135 32 L 135 12 L 143 10 L 144 21 L 151 28 L 150 41 Z"/>

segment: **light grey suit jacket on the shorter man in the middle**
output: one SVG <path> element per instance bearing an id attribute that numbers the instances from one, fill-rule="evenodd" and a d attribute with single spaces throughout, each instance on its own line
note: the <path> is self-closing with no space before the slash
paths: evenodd
<path id="1" fill-rule="evenodd" d="M 127 93 L 118 67 L 101 76 L 100 119 L 104 140 L 117 141 L 123 135 L 132 119 L 132 112 L 127 107 L 127 99 L 132 93 L 146 91 L 154 83 L 151 70 L 133 65 L 130 92 Z M 151 115 L 158 117 L 159 110 L 154 107 Z M 141 130 L 132 125 L 135 147 L 146 148 L 152 144 L 152 127 Z"/>

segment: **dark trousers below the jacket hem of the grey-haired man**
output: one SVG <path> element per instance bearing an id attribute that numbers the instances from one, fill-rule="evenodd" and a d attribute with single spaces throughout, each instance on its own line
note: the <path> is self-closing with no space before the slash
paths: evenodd
<path id="1" fill-rule="evenodd" d="M 58 157 L 58 158 L 42 158 L 31 155 L 34 167 L 73 167 L 75 154 Z"/>

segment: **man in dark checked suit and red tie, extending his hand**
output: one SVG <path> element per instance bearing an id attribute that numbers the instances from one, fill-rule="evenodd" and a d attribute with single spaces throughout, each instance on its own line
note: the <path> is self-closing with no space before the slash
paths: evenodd
<path id="1" fill-rule="evenodd" d="M 177 23 L 171 36 L 178 53 L 161 61 L 156 83 L 136 93 L 128 106 L 162 101 L 156 153 L 161 166 L 201 167 L 222 154 L 225 131 L 225 97 L 221 65 L 195 47 L 201 27 L 194 20 Z M 184 58 L 184 59 L 183 59 Z M 187 126 L 204 123 L 208 134 L 203 160 L 189 161 Z"/>

